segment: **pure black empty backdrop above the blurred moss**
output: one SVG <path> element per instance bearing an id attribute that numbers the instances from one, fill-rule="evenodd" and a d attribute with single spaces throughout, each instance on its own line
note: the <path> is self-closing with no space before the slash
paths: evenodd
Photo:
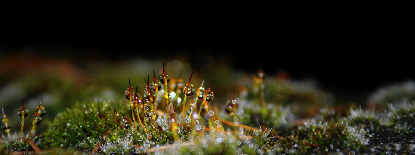
<path id="1" fill-rule="evenodd" d="M 357 103 L 381 86 L 414 77 L 413 17 L 406 10 L 129 17 L 11 22 L 2 30 L 0 57 L 27 45 L 37 55 L 77 65 L 177 55 L 195 65 L 212 55 L 245 72 L 262 68 L 266 74 L 286 71 L 292 79 L 314 78 L 337 101 Z"/>

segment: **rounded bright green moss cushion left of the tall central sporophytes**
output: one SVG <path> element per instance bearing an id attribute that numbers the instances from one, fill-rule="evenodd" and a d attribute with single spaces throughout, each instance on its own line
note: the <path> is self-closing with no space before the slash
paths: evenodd
<path id="1" fill-rule="evenodd" d="M 49 123 L 44 145 L 90 151 L 109 129 L 115 129 L 113 111 L 107 102 L 76 103 Z"/>

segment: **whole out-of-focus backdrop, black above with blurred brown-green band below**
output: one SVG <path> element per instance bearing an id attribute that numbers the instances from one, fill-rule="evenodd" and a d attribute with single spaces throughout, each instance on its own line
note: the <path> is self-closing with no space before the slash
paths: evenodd
<path id="1" fill-rule="evenodd" d="M 195 87 L 215 79 L 218 105 L 227 101 L 233 86 L 251 87 L 260 69 L 268 91 L 320 92 L 325 95 L 321 107 L 366 107 L 415 96 L 412 18 L 403 10 L 203 14 L 197 19 L 166 15 L 134 21 L 69 17 L 47 26 L 26 17 L 26 24 L 2 31 L 0 106 L 15 129 L 22 98 L 32 115 L 43 96 L 47 121 L 76 102 L 127 103 L 128 78 L 142 93 L 146 76 L 153 78 L 151 69 L 161 74 L 163 60 L 172 78 L 183 69 L 187 81 L 195 72 Z M 312 103 L 267 102 L 292 105 L 297 114 L 300 105 Z"/>

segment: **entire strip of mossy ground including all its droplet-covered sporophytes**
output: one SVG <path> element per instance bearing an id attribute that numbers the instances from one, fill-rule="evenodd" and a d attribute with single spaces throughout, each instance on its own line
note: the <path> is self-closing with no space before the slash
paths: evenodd
<path id="1" fill-rule="evenodd" d="M 212 80 L 207 89 L 203 87 L 203 80 L 196 90 L 191 82 L 197 83 L 197 72 L 192 72 L 188 82 L 183 83 L 182 73 L 171 78 L 164 65 L 163 62 L 160 76 L 156 76 L 154 69 L 153 79 L 147 76 L 143 83 L 143 96 L 139 94 L 138 86 L 136 89 L 132 87 L 134 79 L 128 79 L 125 91 L 128 101 L 93 99 L 75 103 L 48 122 L 46 131 L 38 134 L 33 133 L 37 133 L 36 126 L 44 122 L 45 109 L 41 102 L 32 116 L 32 129 L 27 134 L 24 134 L 23 126 L 29 110 L 23 103 L 18 111 L 22 118 L 20 134 L 18 131 L 10 134 L 12 126 L 3 110 L 1 126 L 5 132 L 0 134 L 1 153 L 262 155 L 414 152 L 411 146 L 415 142 L 411 140 L 396 144 L 383 141 L 376 145 L 371 141 L 376 142 L 373 137 L 379 139 L 385 133 L 397 137 L 415 136 L 415 103 L 390 105 L 384 112 L 354 108 L 342 116 L 328 107 L 321 109 L 320 114 L 312 119 L 294 123 L 290 107 L 280 104 L 283 98 L 271 103 L 265 100 L 264 91 L 258 91 L 266 89 L 266 86 L 272 87 L 272 83 L 264 79 L 262 71 L 251 78 L 251 85 L 230 87 L 228 100 L 223 102 L 223 106 L 218 106 L 217 103 L 221 102 L 216 100 L 225 96 L 216 93 L 218 96 L 214 100 L 213 91 L 220 89 L 220 80 L 217 80 L 217 85 L 213 85 Z M 279 93 L 283 90 L 279 89 Z M 245 98 L 249 91 L 259 92 L 260 98 Z M 317 101 L 312 99 L 312 102 Z M 404 147 L 398 149 L 392 145 Z M 377 149 L 379 147 L 385 150 Z"/>

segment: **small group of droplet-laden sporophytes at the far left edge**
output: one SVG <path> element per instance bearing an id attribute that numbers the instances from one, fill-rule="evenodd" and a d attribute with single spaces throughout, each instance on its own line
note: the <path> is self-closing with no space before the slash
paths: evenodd
<path id="1" fill-rule="evenodd" d="M 33 134 L 37 125 L 39 125 L 42 121 L 42 117 L 45 114 L 44 107 L 42 107 L 42 100 L 40 100 L 39 106 L 36 107 L 36 111 L 32 116 L 32 128 L 28 134 L 23 134 L 23 127 L 24 127 L 24 118 L 26 118 L 29 114 L 29 110 L 26 109 L 23 105 L 22 100 L 22 107 L 19 109 L 17 114 L 20 118 L 22 118 L 22 122 L 20 122 L 20 126 L 22 126 L 20 135 L 15 133 L 10 136 L 10 129 L 11 125 L 8 121 L 6 114 L 3 111 L 3 121 L 1 124 L 1 128 L 7 133 L 7 136 L 0 134 L 0 153 L 5 152 L 19 152 L 19 151 L 27 151 L 27 153 L 40 153 L 41 150 L 37 146 L 40 144 L 41 140 L 39 135 Z M 26 152 L 25 152 L 26 153 Z"/>

